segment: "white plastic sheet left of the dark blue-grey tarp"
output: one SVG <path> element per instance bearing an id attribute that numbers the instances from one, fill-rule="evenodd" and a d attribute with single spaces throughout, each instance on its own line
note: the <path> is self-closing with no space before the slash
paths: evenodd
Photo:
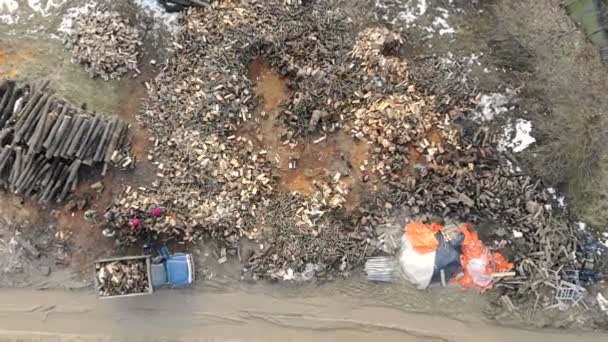
<path id="1" fill-rule="evenodd" d="M 425 289 L 431 283 L 435 270 L 435 254 L 418 253 L 407 237 L 402 239 L 401 257 L 399 263 L 407 280 L 418 289 Z"/>

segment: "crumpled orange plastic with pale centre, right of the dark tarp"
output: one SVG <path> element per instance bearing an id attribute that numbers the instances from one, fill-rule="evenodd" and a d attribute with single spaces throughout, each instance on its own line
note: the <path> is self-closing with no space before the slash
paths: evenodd
<path id="1" fill-rule="evenodd" d="M 492 273 L 506 272 L 513 268 L 500 253 L 490 253 L 477 237 L 477 233 L 465 224 L 461 227 L 464 234 L 460 263 L 463 276 L 452 281 L 466 288 L 487 290 L 492 287 Z"/>

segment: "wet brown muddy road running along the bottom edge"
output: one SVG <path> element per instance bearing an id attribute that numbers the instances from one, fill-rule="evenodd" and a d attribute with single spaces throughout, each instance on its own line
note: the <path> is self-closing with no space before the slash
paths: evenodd
<path id="1" fill-rule="evenodd" d="M 348 297 L 160 291 L 100 301 L 86 292 L 0 292 L 3 341 L 604 341 L 605 336 L 497 328 Z"/>

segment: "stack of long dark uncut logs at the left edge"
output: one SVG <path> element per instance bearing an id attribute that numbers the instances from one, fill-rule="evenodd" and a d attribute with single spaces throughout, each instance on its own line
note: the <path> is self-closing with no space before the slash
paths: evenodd
<path id="1" fill-rule="evenodd" d="M 0 85 L 0 184 L 42 203 L 63 201 L 83 166 L 125 162 L 127 125 L 72 106 L 48 82 Z"/>

